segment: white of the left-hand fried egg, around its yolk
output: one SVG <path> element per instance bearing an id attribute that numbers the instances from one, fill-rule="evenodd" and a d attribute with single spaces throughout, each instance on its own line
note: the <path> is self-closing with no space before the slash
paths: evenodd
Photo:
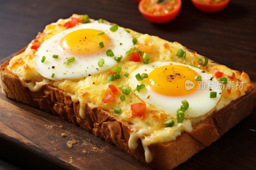
<path id="1" fill-rule="evenodd" d="M 92 22 L 87 24 L 81 24 L 74 26 L 72 28 L 66 29 L 50 39 L 45 40 L 41 46 L 38 48 L 35 54 L 35 68 L 39 74 L 43 77 L 53 80 L 64 80 L 64 79 L 81 79 L 88 75 L 95 75 L 109 68 L 114 67 L 117 62 L 114 57 L 109 57 L 106 55 L 105 48 L 103 52 L 91 54 L 91 55 L 77 55 L 69 53 L 60 46 L 60 42 L 64 36 L 80 29 L 95 29 L 105 32 L 110 40 L 110 49 L 113 51 L 116 57 L 123 58 L 126 56 L 125 52 L 132 48 L 132 36 L 127 33 L 124 29 L 118 28 L 116 32 L 110 31 L 111 25 L 104 23 Z M 52 55 L 59 55 L 58 58 L 52 58 Z M 46 59 L 44 63 L 41 62 L 42 57 L 45 56 Z M 67 61 L 67 58 L 74 56 L 75 61 L 69 63 L 69 65 L 64 65 L 63 63 Z M 102 67 L 98 66 L 99 59 L 104 59 L 104 64 Z M 54 73 L 54 77 L 52 77 Z"/>

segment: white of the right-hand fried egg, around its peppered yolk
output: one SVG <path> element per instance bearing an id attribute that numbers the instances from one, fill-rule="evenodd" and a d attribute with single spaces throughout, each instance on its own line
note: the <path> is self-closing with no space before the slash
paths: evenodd
<path id="1" fill-rule="evenodd" d="M 202 81 L 206 82 L 204 89 L 198 89 L 195 92 L 184 96 L 166 96 L 153 91 L 151 87 L 146 83 L 146 81 L 138 81 L 135 78 L 135 75 L 138 73 L 140 73 L 140 75 L 142 73 L 149 74 L 157 67 L 162 67 L 170 64 L 183 65 L 196 71 L 196 73 L 202 77 Z M 135 94 L 145 103 L 151 104 L 156 109 L 162 110 L 167 114 L 170 114 L 172 117 L 176 117 L 177 110 L 182 105 L 181 101 L 183 100 L 187 100 L 189 103 L 189 108 L 185 111 L 185 116 L 187 118 L 196 118 L 199 116 L 203 116 L 216 107 L 216 105 L 220 101 L 222 92 L 222 90 L 217 86 L 218 80 L 216 78 L 212 78 L 211 74 L 205 73 L 202 70 L 192 67 L 190 65 L 174 62 L 152 62 L 149 64 L 141 65 L 136 70 L 132 71 L 131 75 L 129 76 L 129 81 L 131 90 L 135 89 L 137 85 L 144 83 L 146 85 L 146 88 L 141 89 L 140 92 L 135 91 Z M 208 84 L 208 81 L 210 81 L 210 84 Z M 208 87 L 211 87 L 212 91 L 210 91 Z M 195 86 L 194 88 L 197 88 L 197 86 Z M 210 92 L 217 92 L 217 97 L 210 98 Z"/>

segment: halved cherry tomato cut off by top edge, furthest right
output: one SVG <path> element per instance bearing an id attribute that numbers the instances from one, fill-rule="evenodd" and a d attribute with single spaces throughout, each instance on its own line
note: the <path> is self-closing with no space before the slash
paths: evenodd
<path id="1" fill-rule="evenodd" d="M 191 0 L 194 6 L 203 12 L 214 13 L 223 10 L 230 0 Z"/>

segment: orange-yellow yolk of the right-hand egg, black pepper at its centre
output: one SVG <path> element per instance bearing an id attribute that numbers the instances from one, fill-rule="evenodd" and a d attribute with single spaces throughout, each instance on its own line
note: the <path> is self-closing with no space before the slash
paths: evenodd
<path id="1" fill-rule="evenodd" d="M 194 78 L 196 76 L 198 76 L 196 71 L 189 67 L 167 65 L 150 72 L 147 83 L 157 93 L 167 96 L 183 96 L 195 92 L 197 81 Z"/>

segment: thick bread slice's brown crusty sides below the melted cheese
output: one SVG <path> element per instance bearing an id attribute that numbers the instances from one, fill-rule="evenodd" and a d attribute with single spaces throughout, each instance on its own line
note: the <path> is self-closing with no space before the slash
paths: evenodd
<path id="1" fill-rule="evenodd" d="M 24 49 L 20 53 L 23 51 Z M 82 119 L 79 115 L 79 102 L 74 103 L 68 93 L 50 85 L 43 85 L 39 91 L 31 92 L 22 85 L 18 77 L 7 70 L 8 63 L 9 61 L 6 61 L 0 67 L 0 83 L 7 97 L 79 124 L 96 136 L 115 144 L 119 149 L 157 169 L 173 169 L 185 162 L 248 116 L 256 105 L 256 83 L 251 82 L 244 96 L 193 125 L 190 133 L 183 132 L 174 141 L 148 146 L 153 155 L 153 161 L 146 163 L 140 140 L 136 150 L 128 147 L 131 127 L 127 122 L 118 119 L 108 111 L 89 107 L 86 107 L 86 118 Z"/>

